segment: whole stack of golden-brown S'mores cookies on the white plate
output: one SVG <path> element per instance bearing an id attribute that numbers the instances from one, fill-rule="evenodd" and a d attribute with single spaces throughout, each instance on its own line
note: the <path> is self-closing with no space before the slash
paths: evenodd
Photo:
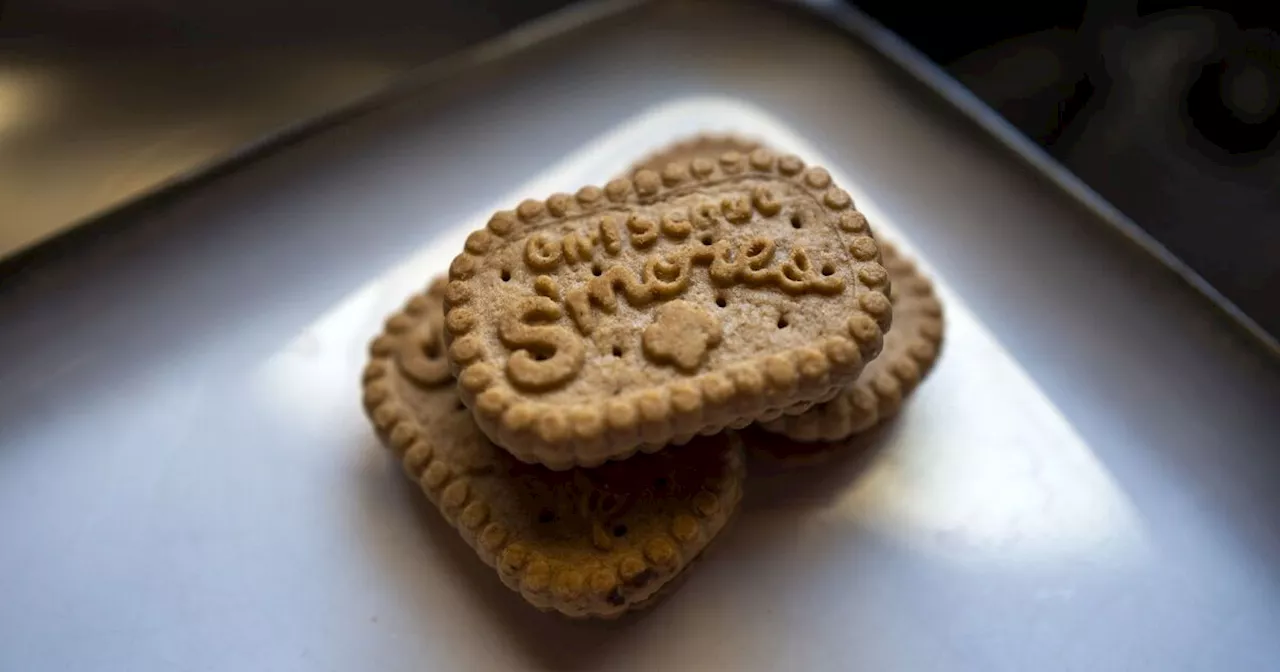
<path id="1" fill-rule="evenodd" d="M 847 449 L 941 340 L 931 283 L 826 170 L 704 136 L 493 215 L 387 320 L 364 403 L 504 584 L 614 617 L 724 529 L 744 443 Z"/>

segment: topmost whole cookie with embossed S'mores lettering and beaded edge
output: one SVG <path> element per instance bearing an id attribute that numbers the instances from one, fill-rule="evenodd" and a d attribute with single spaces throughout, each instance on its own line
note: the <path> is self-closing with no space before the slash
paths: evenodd
<path id="1" fill-rule="evenodd" d="M 764 150 L 524 201 L 467 238 L 449 280 L 462 401 L 552 468 L 828 401 L 892 316 L 849 193 Z"/>

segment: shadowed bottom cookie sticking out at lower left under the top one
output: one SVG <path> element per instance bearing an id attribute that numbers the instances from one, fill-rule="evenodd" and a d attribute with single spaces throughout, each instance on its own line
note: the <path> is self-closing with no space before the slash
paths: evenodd
<path id="1" fill-rule="evenodd" d="M 503 584 L 541 609 L 644 607 L 723 529 L 742 494 L 736 434 L 599 468 L 552 471 L 495 447 L 458 401 L 438 280 L 370 346 L 364 406 L 404 472 Z"/>

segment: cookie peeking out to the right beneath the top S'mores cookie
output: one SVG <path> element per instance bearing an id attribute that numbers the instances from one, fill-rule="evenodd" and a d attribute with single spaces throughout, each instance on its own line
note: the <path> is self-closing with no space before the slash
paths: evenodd
<path id="1" fill-rule="evenodd" d="M 933 369 L 945 325 L 933 283 L 887 242 L 881 242 L 881 253 L 893 302 L 893 330 L 884 335 L 881 356 L 835 399 L 760 426 L 797 442 L 835 442 L 828 448 L 838 451 L 844 439 L 897 415 L 902 402 Z M 778 458 L 794 454 L 812 461 L 813 453 L 822 452 L 792 442 L 753 442 L 753 445 Z"/>

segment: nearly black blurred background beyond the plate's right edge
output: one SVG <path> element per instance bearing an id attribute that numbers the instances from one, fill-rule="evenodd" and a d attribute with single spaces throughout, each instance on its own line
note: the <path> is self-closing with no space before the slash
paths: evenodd
<path id="1" fill-rule="evenodd" d="M 1280 335 L 1280 4 L 854 4 Z"/>

